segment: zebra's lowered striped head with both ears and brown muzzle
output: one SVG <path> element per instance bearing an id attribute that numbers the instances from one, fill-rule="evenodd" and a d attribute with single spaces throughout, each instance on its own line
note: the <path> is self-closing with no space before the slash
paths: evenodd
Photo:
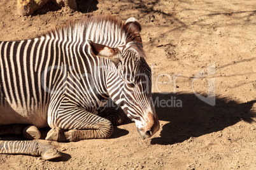
<path id="1" fill-rule="evenodd" d="M 136 122 L 144 140 L 159 130 L 159 119 L 152 101 L 152 72 L 145 60 L 141 25 L 134 18 L 125 23 L 126 43 L 114 48 L 89 41 L 95 56 L 113 61 L 115 71 L 108 80 L 107 89 L 113 101 L 120 105 L 127 117 Z"/>

